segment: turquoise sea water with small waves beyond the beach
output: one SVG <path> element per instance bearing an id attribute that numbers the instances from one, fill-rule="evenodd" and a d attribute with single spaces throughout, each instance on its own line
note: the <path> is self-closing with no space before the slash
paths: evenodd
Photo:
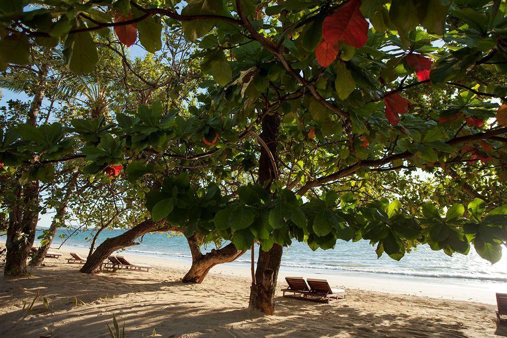
<path id="1" fill-rule="evenodd" d="M 97 245 L 108 237 L 115 237 L 123 230 L 103 231 Z M 38 231 L 37 236 L 42 234 Z M 68 231 L 59 231 L 67 234 Z M 77 233 L 66 239 L 64 246 L 88 248 L 91 237 L 90 231 Z M 52 247 L 58 248 L 64 239 L 56 238 Z M 211 250 L 208 245 L 204 250 Z M 144 235 L 140 245 L 126 248 L 126 251 L 142 255 L 167 257 L 170 259 L 191 260 L 190 249 L 184 237 L 168 237 L 167 234 Z M 466 256 L 454 254 L 447 256 L 442 251 L 432 251 L 427 245 L 420 246 L 416 251 L 406 254 L 401 261 L 395 261 L 388 256 L 377 259 L 375 248 L 368 241 L 356 243 L 339 240 L 333 250 L 313 252 L 303 243 L 294 242 L 289 248 L 284 248 L 282 266 L 304 268 L 317 273 L 333 273 L 337 271 L 382 273 L 391 275 L 405 275 L 418 277 L 447 277 L 458 279 L 484 280 L 493 282 L 507 282 L 507 250 L 504 257 L 494 265 L 482 259 L 472 248 Z M 250 264 L 248 253 L 239 257 L 231 264 Z"/>

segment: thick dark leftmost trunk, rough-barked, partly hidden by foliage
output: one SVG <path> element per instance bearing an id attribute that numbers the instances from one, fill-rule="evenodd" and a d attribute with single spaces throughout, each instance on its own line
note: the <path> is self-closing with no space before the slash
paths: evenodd
<path id="1" fill-rule="evenodd" d="M 28 111 L 26 123 L 34 126 L 41 110 L 46 87 L 49 65 L 42 62 L 39 68 L 37 88 Z M 35 239 L 35 228 L 39 220 L 39 181 L 30 181 L 16 187 L 16 199 L 9 210 L 9 229 L 7 230 L 7 255 L 4 268 L 6 277 L 24 277 L 28 275 L 26 259 Z"/>

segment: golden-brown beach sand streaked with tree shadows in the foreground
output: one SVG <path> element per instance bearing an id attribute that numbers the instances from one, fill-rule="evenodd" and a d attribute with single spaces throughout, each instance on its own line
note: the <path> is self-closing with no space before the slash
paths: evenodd
<path id="1" fill-rule="evenodd" d="M 64 257 L 69 257 L 69 251 L 86 252 L 75 248 L 59 251 Z M 46 259 L 45 267 L 31 268 L 31 278 L 0 277 L 0 336 L 108 337 L 106 323 L 112 325 L 113 314 L 120 326 L 125 323 L 126 336 L 136 337 L 151 336 L 154 329 L 164 337 L 507 336 L 507 328 L 496 325 L 495 306 L 463 301 L 469 296 L 461 290 L 453 293 L 454 297 L 461 294 L 461 299 L 454 300 L 413 296 L 361 289 L 361 285 L 352 288 L 348 284 L 354 281 L 345 278 L 337 283 L 335 276 L 331 283 L 347 290 L 345 302 L 305 302 L 283 298 L 278 291 L 276 314 L 263 316 L 247 309 L 248 269 L 222 265 L 203 284 L 184 284 L 180 279 L 188 264 L 125 256 L 148 262 L 154 269 L 150 273 L 84 275 L 78 272 L 79 265 L 65 264 L 62 257 Z M 283 275 L 278 289 L 285 285 Z M 398 290 L 410 293 L 411 286 L 399 285 Z M 31 303 L 37 292 L 40 296 L 32 310 L 23 311 L 23 302 Z"/>

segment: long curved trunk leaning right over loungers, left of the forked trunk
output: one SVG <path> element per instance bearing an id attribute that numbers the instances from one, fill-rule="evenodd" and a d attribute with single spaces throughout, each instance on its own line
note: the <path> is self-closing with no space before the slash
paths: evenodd
<path id="1" fill-rule="evenodd" d="M 154 222 L 151 219 L 147 219 L 119 236 L 106 239 L 90 256 L 88 256 L 86 263 L 83 265 L 80 272 L 85 274 L 94 273 L 100 267 L 102 262 L 113 252 L 127 246 L 136 245 L 134 240 L 144 234 L 154 231 L 175 230 L 172 227 L 163 226 L 163 224 L 163 221 Z"/>

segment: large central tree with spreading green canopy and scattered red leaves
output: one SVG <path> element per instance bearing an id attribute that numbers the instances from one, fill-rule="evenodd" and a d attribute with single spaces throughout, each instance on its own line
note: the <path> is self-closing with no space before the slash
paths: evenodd
<path id="1" fill-rule="evenodd" d="M 92 130 L 93 144 L 57 161 L 84 158 L 85 175 L 127 161 L 129 180 L 152 177 L 152 220 L 143 231 L 171 224 L 187 237 L 230 239 L 238 250 L 259 241 L 250 306 L 269 314 L 281 247 L 292 239 L 330 249 L 337 239 L 363 238 L 394 259 L 420 244 L 466 254 L 473 243 L 498 261 L 505 206 L 486 213 L 474 199 L 466 214 L 458 203 L 409 212 L 397 200 L 336 193 L 350 178 L 436 165 L 504 179 L 506 110 L 498 102 L 507 88 L 490 79 L 505 79 L 506 8 L 452 3 L 194 0 L 178 14 L 177 5 L 102 1 L 97 19 L 93 2 L 89 10 L 59 3 L 36 13 L 19 4 L 3 9 L 10 15 L 0 41 L 17 41 L 19 53 L 0 59 L 27 63 L 31 40 L 62 41 L 68 69 L 89 72 L 97 59 L 90 32 L 114 27 L 127 46 L 138 32 L 140 44 L 156 52 L 164 26 L 181 28 L 213 78 L 200 84 L 196 106 L 164 110 L 154 101 L 118 112 L 117 125 Z M 47 10 L 62 15 L 34 25 Z M 37 165 L 48 161 L 41 156 Z M 203 184 L 173 176 L 178 166 Z M 230 194 L 222 198 L 219 186 Z"/>

